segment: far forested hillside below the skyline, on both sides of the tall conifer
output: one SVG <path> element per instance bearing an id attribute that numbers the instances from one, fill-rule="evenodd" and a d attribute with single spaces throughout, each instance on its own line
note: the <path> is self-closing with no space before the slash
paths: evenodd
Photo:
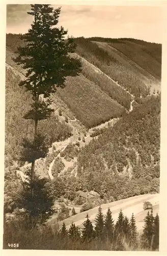
<path id="1" fill-rule="evenodd" d="M 154 80 L 160 79 L 160 45 L 147 42 L 142 45 L 127 39 L 113 42 L 107 38 L 82 37 L 75 38 L 75 43 L 78 55 L 73 57 L 84 57 L 81 58 L 82 71 L 78 77 L 67 77 L 66 87 L 58 89 L 57 97 L 88 128 L 123 116 L 130 109 L 132 97 L 137 101 L 140 96 L 146 97 L 151 84 L 157 82 Z M 12 59 L 17 47 L 23 44 L 21 35 L 7 34 L 6 61 L 25 74 L 25 70 Z M 122 48 L 119 49 L 117 44 Z M 155 73 L 153 77 L 155 69 L 159 76 Z M 54 95 L 52 98 L 54 100 Z"/>

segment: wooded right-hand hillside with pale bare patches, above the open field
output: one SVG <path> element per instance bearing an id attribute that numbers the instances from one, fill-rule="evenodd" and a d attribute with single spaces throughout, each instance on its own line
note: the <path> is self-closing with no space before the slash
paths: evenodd
<path id="1" fill-rule="evenodd" d="M 159 150 L 160 96 L 149 96 L 82 148 L 77 175 L 88 190 L 115 200 L 158 191 Z"/>

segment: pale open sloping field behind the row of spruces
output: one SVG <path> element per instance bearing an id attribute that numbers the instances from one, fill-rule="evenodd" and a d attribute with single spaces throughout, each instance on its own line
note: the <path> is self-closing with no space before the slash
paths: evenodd
<path id="1" fill-rule="evenodd" d="M 143 226 L 144 217 L 147 214 L 147 210 L 143 210 L 143 203 L 145 201 L 149 201 L 152 203 L 152 205 L 154 206 L 153 212 L 154 215 L 156 215 L 156 213 L 158 213 L 159 211 L 159 194 L 147 194 L 130 197 L 127 199 L 102 204 L 101 208 L 104 215 L 106 214 L 107 209 L 110 208 L 110 210 L 112 211 L 113 219 L 115 221 L 118 218 L 120 209 L 123 210 L 123 214 L 128 218 L 130 218 L 133 213 L 134 217 L 136 218 L 137 228 L 138 230 L 140 230 Z M 86 220 L 87 214 L 89 215 L 90 220 L 94 222 L 96 214 L 98 212 L 98 208 L 99 206 L 84 212 L 80 212 L 75 216 L 71 216 L 63 221 L 60 221 L 59 228 L 62 227 L 63 222 L 65 223 L 67 229 L 69 229 L 72 222 L 75 223 L 76 226 L 82 227 L 82 223 Z M 51 219 L 48 223 L 51 225 L 52 228 L 55 228 L 57 226 L 57 219 Z"/>

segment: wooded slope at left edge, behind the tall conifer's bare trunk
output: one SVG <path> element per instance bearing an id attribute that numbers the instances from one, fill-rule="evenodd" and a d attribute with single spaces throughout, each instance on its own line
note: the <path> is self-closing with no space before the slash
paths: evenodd
<path id="1" fill-rule="evenodd" d="M 20 160 L 23 139 L 32 139 L 34 134 L 33 122 L 23 118 L 30 109 L 31 95 L 18 86 L 19 81 L 19 76 L 16 76 L 11 69 L 6 69 L 6 166 L 11 165 L 13 161 Z M 72 135 L 71 127 L 65 122 L 59 122 L 54 114 L 47 120 L 40 121 L 39 131 L 47 135 L 48 147 L 53 142 L 64 140 Z"/>

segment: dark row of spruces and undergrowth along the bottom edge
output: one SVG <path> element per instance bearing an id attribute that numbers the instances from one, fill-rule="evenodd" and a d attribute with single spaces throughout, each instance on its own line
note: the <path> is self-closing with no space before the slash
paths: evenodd
<path id="1" fill-rule="evenodd" d="M 9 248 L 12 242 L 9 236 L 12 221 L 7 223 L 4 233 L 4 247 Z M 16 223 L 13 225 L 16 227 Z M 44 235 L 45 231 L 45 235 Z M 26 237 L 30 232 L 34 239 L 32 244 Z M 42 236 L 39 237 L 39 234 Z M 153 216 L 153 210 L 148 211 L 144 219 L 142 233 L 137 232 L 136 221 L 132 214 L 130 220 L 124 216 L 122 209 L 119 211 L 118 219 L 114 224 L 112 211 L 108 208 L 103 215 L 101 207 L 92 223 L 87 214 L 82 228 L 72 223 L 67 230 L 65 223 L 61 229 L 50 228 L 48 224 L 41 227 L 27 229 L 22 227 L 16 233 L 19 249 L 62 249 L 62 250 L 158 250 L 159 249 L 159 216 Z M 39 240 L 37 238 L 39 237 Z M 47 241 L 47 242 L 46 242 Z M 10 249 L 10 248 L 9 248 Z"/>

